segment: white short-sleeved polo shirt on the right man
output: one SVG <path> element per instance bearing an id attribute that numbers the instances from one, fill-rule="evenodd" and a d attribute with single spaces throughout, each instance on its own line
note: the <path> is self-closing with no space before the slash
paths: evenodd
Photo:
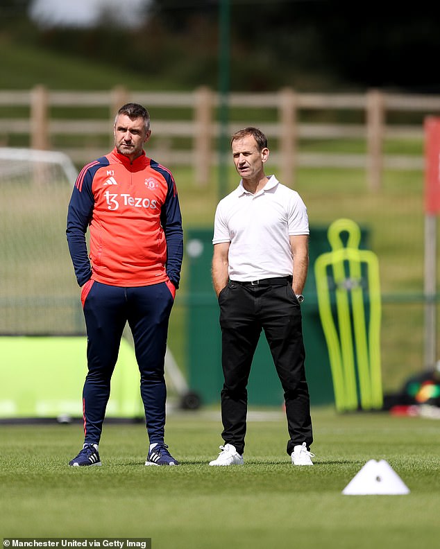
<path id="1" fill-rule="evenodd" d="M 219 202 L 212 243 L 230 242 L 230 279 L 251 281 L 292 275 L 289 236 L 296 234 L 309 234 L 307 208 L 296 191 L 272 175 L 255 195 L 240 181 Z"/>

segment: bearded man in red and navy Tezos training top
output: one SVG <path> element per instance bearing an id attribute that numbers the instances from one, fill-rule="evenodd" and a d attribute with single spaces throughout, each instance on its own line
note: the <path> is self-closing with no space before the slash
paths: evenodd
<path id="1" fill-rule="evenodd" d="M 67 214 L 67 242 L 87 329 L 84 446 L 71 466 L 101 465 L 99 440 L 126 322 L 140 372 L 149 452 L 146 465 L 178 465 L 164 444 L 164 357 L 180 280 L 183 229 L 174 177 L 144 153 L 149 112 L 119 109 L 115 148 L 84 166 Z M 90 255 L 85 234 L 90 231 Z"/>

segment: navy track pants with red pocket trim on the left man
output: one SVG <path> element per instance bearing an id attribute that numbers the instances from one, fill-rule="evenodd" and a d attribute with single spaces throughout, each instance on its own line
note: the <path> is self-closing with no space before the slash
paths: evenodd
<path id="1" fill-rule="evenodd" d="M 127 322 L 133 333 L 150 444 L 163 442 L 167 399 L 164 358 L 174 303 L 167 284 L 121 288 L 90 281 L 83 286 L 81 300 L 87 329 L 88 373 L 83 388 L 85 442 L 98 444 L 101 438 L 110 379 Z"/>

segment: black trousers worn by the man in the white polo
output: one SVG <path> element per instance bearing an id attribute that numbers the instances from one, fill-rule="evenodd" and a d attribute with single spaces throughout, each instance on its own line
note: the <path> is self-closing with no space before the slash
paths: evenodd
<path id="1" fill-rule="evenodd" d="M 305 377 L 301 307 L 289 281 L 279 285 L 242 285 L 230 281 L 219 294 L 224 384 L 221 391 L 222 438 L 244 451 L 247 384 L 262 330 L 284 390 L 287 453 L 313 442 L 310 397 Z"/>

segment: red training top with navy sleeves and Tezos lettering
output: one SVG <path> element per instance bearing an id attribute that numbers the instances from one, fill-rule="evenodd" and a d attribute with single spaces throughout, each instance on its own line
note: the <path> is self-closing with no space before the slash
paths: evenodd
<path id="1" fill-rule="evenodd" d="M 132 164 L 116 148 L 87 164 L 72 191 L 67 241 L 80 286 L 92 278 L 126 287 L 170 279 L 178 287 L 183 231 L 173 176 L 145 154 Z"/>

